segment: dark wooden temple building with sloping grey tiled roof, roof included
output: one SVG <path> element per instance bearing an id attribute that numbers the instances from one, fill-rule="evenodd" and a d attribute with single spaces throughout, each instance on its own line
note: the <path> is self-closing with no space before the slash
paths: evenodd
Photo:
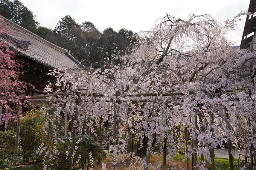
<path id="1" fill-rule="evenodd" d="M 35 86 L 35 89 L 28 89 L 27 95 L 43 93 L 50 78 L 49 70 L 65 70 L 79 65 L 68 50 L 46 41 L 6 18 L 3 19 L 11 35 L 2 34 L 0 40 L 14 39 L 15 43 L 9 44 L 16 53 L 14 59 L 23 65 L 24 75 L 20 75 L 20 80 Z"/>

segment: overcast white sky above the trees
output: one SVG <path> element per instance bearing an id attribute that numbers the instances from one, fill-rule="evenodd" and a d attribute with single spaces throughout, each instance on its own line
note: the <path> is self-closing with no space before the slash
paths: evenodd
<path id="1" fill-rule="evenodd" d="M 61 18 L 71 15 L 81 24 L 92 22 L 100 31 L 112 27 L 139 32 L 150 30 L 158 18 L 166 13 L 175 18 L 188 19 L 190 13 L 210 14 L 223 23 L 239 11 L 247 11 L 250 0 L 20 0 L 30 9 L 40 26 L 54 29 Z M 240 45 L 245 17 L 238 22 L 236 31 L 231 31 L 233 41 Z"/>

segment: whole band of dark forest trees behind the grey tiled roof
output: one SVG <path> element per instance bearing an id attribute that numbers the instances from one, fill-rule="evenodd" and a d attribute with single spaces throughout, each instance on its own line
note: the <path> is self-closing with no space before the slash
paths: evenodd
<path id="1" fill-rule="evenodd" d="M 125 28 L 116 32 L 109 27 L 99 32 L 90 21 L 78 24 L 70 15 L 61 18 L 54 30 L 48 29 L 40 26 L 33 12 L 18 0 L 0 0 L 0 15 L 41 38 L 70 50 L 75 59 L 93 68 L 99 68 L 100 64 L 97 62 L 102 61 L 120 63 L 120 56 L 130 53 L 131 47 L 139 39 L 136 33 Z"/>

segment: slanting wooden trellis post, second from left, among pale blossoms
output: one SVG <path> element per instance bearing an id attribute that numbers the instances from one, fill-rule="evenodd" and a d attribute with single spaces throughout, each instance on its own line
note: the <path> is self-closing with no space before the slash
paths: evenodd
<path id="1" fill-rule="evenodd" d="M 69 160 L 69 170 L 72 170 L 73 166 L 73 153 L 75 150 L 75 141 L 76 141 L 76 126 L 74 126 L 74 122 L 76 122 L 77 115 L 78 115 L 78 105 L 80 101 L 80 96 L 78 96 L 78 99 L 76 99 L 76 111 L 74 115 L 74 120 L 73 120 L 73 133 L 72 133 L 72 142 L 71 142 L 71 149 L 70 149 L 70 160 Z"/>

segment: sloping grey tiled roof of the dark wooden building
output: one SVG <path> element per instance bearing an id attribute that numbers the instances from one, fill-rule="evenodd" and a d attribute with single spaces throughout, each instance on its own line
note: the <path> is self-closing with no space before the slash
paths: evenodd
<path id="1" fill-rule="evenodd" d="M 45 39 L 24 29 L 18 24 L 7 20 L 4 17 L 2 18 L 4 19 L 5 24 L 8 26 L 8 29 L 11 30 L 12 38 L 27 40 L 31 43 L 27 50 L 23 50 L 14 44 L 11 44 L 11 46 L 17 50 L 17 54 L 34 60 L 42 65 L 46 65 L 50 68 L 60 70 L 74 68 L 75 66 L 80 65 L 79 62 L 72 57 L 66 49 L 46 41 Z M 0 36 L 0 39 L 3 38 Z"/>

